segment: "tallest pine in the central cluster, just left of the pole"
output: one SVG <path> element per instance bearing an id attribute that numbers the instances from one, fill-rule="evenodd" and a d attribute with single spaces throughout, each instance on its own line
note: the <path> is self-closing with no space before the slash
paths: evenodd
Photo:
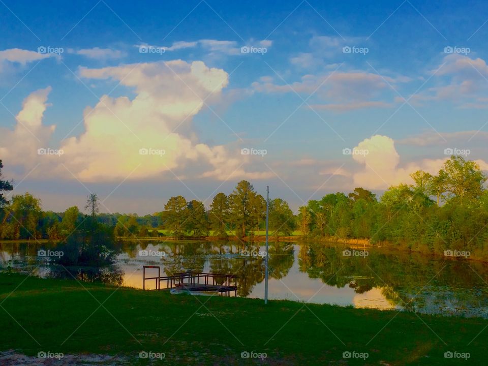
<path id="1" fill-rule="evenodd" d="M 235 225 L 239 237 L 246 235 L 246 228 L 250 225 L 251 203 L 255 195 L 253 185 L 247 180 L 238 182 L 234 191 L 229 195 L 231 221 Z"/>

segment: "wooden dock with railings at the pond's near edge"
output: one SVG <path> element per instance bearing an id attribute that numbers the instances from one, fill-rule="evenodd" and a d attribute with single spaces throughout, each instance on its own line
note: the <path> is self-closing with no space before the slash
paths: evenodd
<path id="1" fill-rule="evenodd" d="M 157 269 L 158 276 L 146 277 L 146 269 Z M 160 266 L 143 266 L 142 288 L 144 290 L 148 280 L 155 280 L 156 290 L 170 290 L 173 294 L 190 293 L 200 295 L 218 293 L 222 296 L 230 296 L 234 292 L 234 296 L 237 296 L 237 276 L 224 273 L 189 271 L 174 273 L 173 276 L 161 276 Z M 163 287 L 161 287 L 161 284 L 163 284 Z"/>

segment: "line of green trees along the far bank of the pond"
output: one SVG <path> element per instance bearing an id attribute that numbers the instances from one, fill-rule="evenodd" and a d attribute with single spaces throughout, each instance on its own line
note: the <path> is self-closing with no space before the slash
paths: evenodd
<path id="1" fill-rule="evenodd" d="M 310 200 L 296 213 L 285 200 L 275 198 L 269 202 L 270 233 L 315 240 L 364 239 L 428 253 L 468 250 L 488 259 L 487 178 L 478 164 L 452 156 L 438 174 L 419 170 L 411 177 L 413 184 L 392 186 L 379 199 L 358 187 L 347 195 L 338 192 Z M 1 193 L 11 189 L 10 182 L 0 180 L 0 238 L 63 239 L 83 221 L 78 207 L 44 212 L 39 199 L 29 193 L 6 200 Z M 153 215 L 97 213 L 96 218 L 119 237 L 241 238 L 263 234 L 265 213 L 265 199 L 242 180 L 230 194 L 215 195 L 208 208 L 201 201 L 175 196 Z"/>

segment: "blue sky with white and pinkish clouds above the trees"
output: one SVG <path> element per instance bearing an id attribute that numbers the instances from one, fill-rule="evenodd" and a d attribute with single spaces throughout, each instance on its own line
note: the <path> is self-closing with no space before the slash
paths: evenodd
<path id="1" fill-rule="evenodd" d="M 2 0 L 0 32 L 3 176 L 45 210 L 488 171 L 486 2 Z"/>

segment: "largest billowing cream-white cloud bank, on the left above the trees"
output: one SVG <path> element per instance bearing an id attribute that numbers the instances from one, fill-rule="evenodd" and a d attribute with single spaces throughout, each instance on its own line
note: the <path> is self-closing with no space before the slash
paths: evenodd
<path id="1" fill-rule="evenodd" d="M 226 180 L 260 179 L 269 172 L 248 171 L 251 157 L 238 146 L 209 146 L 198 142 L 191 121 L 203 107 L 202 99 L 218 100 L 228 84 L 222 69 L 202 62 L 122 65 L 80 68 L 87 79 L 108 79 L 134 89 L 136 96 L 102 96 L 83 113 L 84 132 L 62 141 L 63 155 L 37 155 L 47 145 L 54 126 L 42 124 L 50 88 L 31 94 L 17 115 L 14 130 L 2 131 L 2 156 L 14 165 L 33 167 L 41 177 L 82 181 L 122 181 L 161 176 L 191 176 Z M 29 132 L 30 131 L 30 132 Z M 4 147 L 5 146 L 5 147 Z"/>

